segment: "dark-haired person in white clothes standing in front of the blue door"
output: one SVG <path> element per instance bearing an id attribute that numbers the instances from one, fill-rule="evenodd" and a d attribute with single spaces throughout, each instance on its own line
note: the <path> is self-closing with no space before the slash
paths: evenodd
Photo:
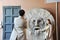
<path id="1" fill-rule="evenodd" d="M 14 19 L 14 28 L 10 37 L 10 40 L 26 40 L 25 28 L 26 20 L 24 18 L 25 11 L 22 9 L 19 11 L 19 17 Z"/>

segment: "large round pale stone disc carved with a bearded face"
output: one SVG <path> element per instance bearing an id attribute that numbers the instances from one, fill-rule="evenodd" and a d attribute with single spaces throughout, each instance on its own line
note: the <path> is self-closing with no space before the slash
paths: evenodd
<path id="1" fill-rule="evenodd" d="M 46 29 L 49 28 L 47 26 L 49 22 L 47 19 L 51 21 L 52 25 L 55 25 L 55 20 L 50 12 L 41 8 L 29 10 L 26 13 L 26 18 L 28 20 L 28 29 L 31 31 L 30 36 L 33 40 L 45 40 L 48 37 L 48 32 Z"/>

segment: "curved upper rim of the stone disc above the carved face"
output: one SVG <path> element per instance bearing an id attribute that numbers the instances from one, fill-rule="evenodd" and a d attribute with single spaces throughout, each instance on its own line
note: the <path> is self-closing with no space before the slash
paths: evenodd
<path id="1" fill-rule="evenodd" d="M 27 20 L 30 20 L 33 17 L 35 17 L 35 18 L 36 17 L 41 17 L 41 18 L 44 18 L 44 19 L 50 19 L 52 25 L 55 25 L 55 20 L 54 20 L 52 14 L 45 9 L 33 8 L 33 9 L 28 10 L 27 13 L 26 13 Z"/>

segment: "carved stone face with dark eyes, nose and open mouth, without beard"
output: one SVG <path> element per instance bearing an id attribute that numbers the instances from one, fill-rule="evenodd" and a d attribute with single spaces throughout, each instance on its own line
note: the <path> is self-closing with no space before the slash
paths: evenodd
<path id="1" fill-rule="evenodd" d="M 40 30 L 40 29 L 44 29 L 45 25 L 46 25 L 46 21 L 43 18 L 32 18 L 29 21 L 29 26 L 31 29 L 33 30 Z"/>

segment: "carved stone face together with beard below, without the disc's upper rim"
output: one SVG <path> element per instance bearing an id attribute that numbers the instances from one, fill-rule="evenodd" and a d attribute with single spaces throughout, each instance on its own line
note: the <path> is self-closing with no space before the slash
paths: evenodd
<path id="1" fill-rule="evenodd" d="M 48 32 L 44 31 L 46 25 L 46 20 L 43 18 L 32 18 L 29 21 L 32 40 L 45 40 L 47 38 Z"/>

